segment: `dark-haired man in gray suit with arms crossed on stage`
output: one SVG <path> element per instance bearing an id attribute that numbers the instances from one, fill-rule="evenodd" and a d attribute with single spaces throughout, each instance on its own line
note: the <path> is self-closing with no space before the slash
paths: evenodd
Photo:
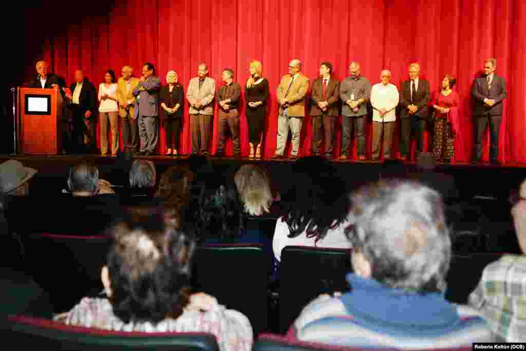
<path id="1" fill-rule="evenodd" d="M 137 124 L 139 127 L 140 154 L 154 155 L 159 140 L 159 90 L 161 82 L 154 76 L 155 67 L 147 62 L 143 65 L 143 76 L 133 89 L 139 107 Z"/>

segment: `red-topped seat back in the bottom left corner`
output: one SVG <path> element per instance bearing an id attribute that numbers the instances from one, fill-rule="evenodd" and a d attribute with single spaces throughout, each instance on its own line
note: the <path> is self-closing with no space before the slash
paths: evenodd
<path id="1" fill-rule="evenodd" d="M 4 345 L 20 350 L 219 350 L 215 336 L 207 333 L 111 332 L 22 316 L 2 320 L 0 329 Z"/>

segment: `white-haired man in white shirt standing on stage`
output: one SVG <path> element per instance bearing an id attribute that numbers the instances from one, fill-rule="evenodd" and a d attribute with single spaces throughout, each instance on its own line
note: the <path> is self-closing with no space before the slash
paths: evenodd
<path id="1" fill-rule="evenodd" d="M 380 140 L 383 137 L 383 155 L 391 158 L 391 144 L 395 132 L 396 107 L 400 94 L 396 85 L 391 84 L 391 72 L 384 69 L 380 74 L 381 83 L 371 88 L 372 105 L 372 156 L 373 161 L 380 157 Z"/>

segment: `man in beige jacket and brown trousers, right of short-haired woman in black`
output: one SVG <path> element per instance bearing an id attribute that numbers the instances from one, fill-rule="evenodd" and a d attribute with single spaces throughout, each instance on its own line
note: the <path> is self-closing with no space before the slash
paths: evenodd
<path id="1" fill-rule="evenodd" d="M 190 104 L 190 129 L 192 132 L 192 153 L 209 155 L 208 142 L 214 117 L 214 96 L 216 81 L 208 77 L 208 66 L 198 66 L 197 77 L 190 79 L 186 98 Z"/>

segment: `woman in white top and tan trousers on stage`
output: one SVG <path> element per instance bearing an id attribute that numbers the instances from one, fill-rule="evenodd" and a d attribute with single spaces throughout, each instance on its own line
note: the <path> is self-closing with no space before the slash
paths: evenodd
<path id="1" fill-rule="evenodd" d="M 117 156 L 119 150 L 117 127 L 119 107 L 117 105 L 117 84 L 115 83 L 115 72 L 108 69 L 104 75 L 104 83 L 99 85 L 98 99 L 100 102 L 100 153 L 108 154 L 108 119 L 112 128 L 112 156 Z"/>

